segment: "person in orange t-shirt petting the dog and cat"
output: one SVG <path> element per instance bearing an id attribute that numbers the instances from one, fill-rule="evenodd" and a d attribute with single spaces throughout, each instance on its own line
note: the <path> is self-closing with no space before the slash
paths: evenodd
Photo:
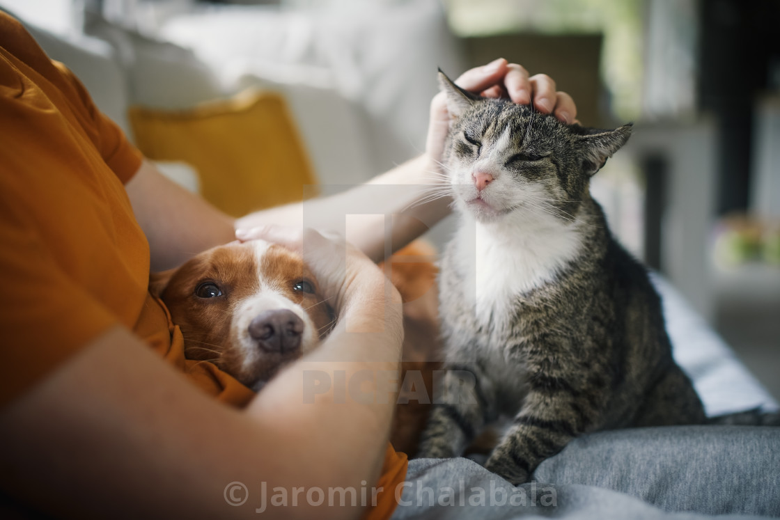
<path id="1" fill-rule="evenodd" d="M 533 97 L 540 111 L 567 122 L 576 115 L 548 76 L 529 78 L 503 59 L 468 71 L 459 84 L 521 103 Z M 372 182 L 416 185 L 438 168 L 448 125 L 435 97 L 426 154 Z M 365 196 L 361 190 L 313 203 L 325 216 L 322 231 L 343 218 L 334 210 L 328 221 L 328 208 Z M 377 212 L 392 214 L 423 197 L 411 188 L 409 200 L 378 201 Z M 392 488 L 406 472 L 406 459 L 387 443 L 392 399 L 303 398 L 309 370 L 349 377 L 398 368 L 401 310 L 386 298 L 374 264 L 384 255 L 384 222 L 368 222 L 355 247 L 302 232 L 300 204 L 234 221 L 161 176 L 73 74 L 3 12 L 0 200 L 0 511 L 221 518 L 254 514 L 260 504 L 253 495 L 280 488 L 303 490 L 298 507 L 283 511 L 289 517 L 392 514 Z M 447 211 L 441 201 L 425 208 L 429 222 Z M 394 243 L 420 231 L 398 221 Z M 147 290 L 151 268 L 175 267 L 236 236 L 291 247 L 305 239 L 321 259 L 310 265 L 314 274 L 339 287 L 339 326 L 257 396 L 209 363 L 187 362 L 178 328 Z M 346 276 L 328 261 L 334 248 L 346 248 Z M 345 322 L 378 331 L 350 334 Z M 307 490 L 327 496 L 372 484 L 384 488 L 373 508 L 303 500 Z"/>

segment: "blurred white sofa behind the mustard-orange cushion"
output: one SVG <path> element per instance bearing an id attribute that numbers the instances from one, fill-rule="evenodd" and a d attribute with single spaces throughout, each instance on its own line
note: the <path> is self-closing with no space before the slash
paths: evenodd
<path id="1" fill-rule="evenodd" d="M 126 131 L 131 105 L 187 108 L 247 87 L 281 92 L 324 184 L 363 182 L 420 154 L 437 67 L 463 69 L 430 0 L 349 12 L 193 7 L 158 25 L 147 37 L 87 13 L 86 35 L 30 30 Z"/>

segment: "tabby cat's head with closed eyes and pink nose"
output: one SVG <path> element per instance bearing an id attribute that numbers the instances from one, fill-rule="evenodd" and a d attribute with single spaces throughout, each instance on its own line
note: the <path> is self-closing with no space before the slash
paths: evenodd
<path id="1" fill-rule="evenodd" d="M 451 117 L 444 167 L 456 208 L 477 221 L 507 215 L 572 221 L 590 177 L 631 133 L 566 125 L 527 105 L 477 97 L 439 72 Z"/>

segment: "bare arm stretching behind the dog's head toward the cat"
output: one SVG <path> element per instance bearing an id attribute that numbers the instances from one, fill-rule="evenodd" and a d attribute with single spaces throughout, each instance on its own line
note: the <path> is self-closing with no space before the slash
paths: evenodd
<path id="1" fill-rule="evenodd" d="M 427 202 L 435 168 L 423 155 L 365 185 L 304 203 L 260 210 L 234 221 L 166 179 L 144 161 L 127 186 L 136 218 L 147 235 L 152 271 L 176 267 L 193 254 L 229 242 L 235 228 L 285 225 L 349 235 L 374 261 L 385 259 L 385 216 L 392 216 L 392 249 L 404 246 L 449 213 L 449 199 Z M 348 215 L 360 218 L 349 219 Z"/>

